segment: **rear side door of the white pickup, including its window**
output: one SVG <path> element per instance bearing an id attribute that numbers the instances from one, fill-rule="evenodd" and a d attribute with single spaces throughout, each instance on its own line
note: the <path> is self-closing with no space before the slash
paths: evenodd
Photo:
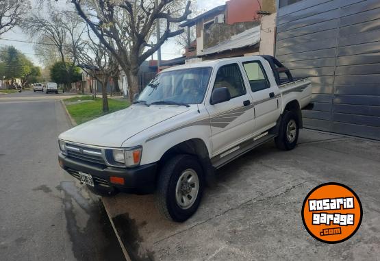
<path id="1" fill-rule="evenodd" d="M 255 105 L 255 133 L 264 132 L 275 126 L 280 116 L 281 94 L 277 84 L 268 79 L 264 66 L 260 60 L 242 62 L 245 76 L 249 82 L 249 91 Z M 270 71 L 270 67 L 267 71 Z"/>

